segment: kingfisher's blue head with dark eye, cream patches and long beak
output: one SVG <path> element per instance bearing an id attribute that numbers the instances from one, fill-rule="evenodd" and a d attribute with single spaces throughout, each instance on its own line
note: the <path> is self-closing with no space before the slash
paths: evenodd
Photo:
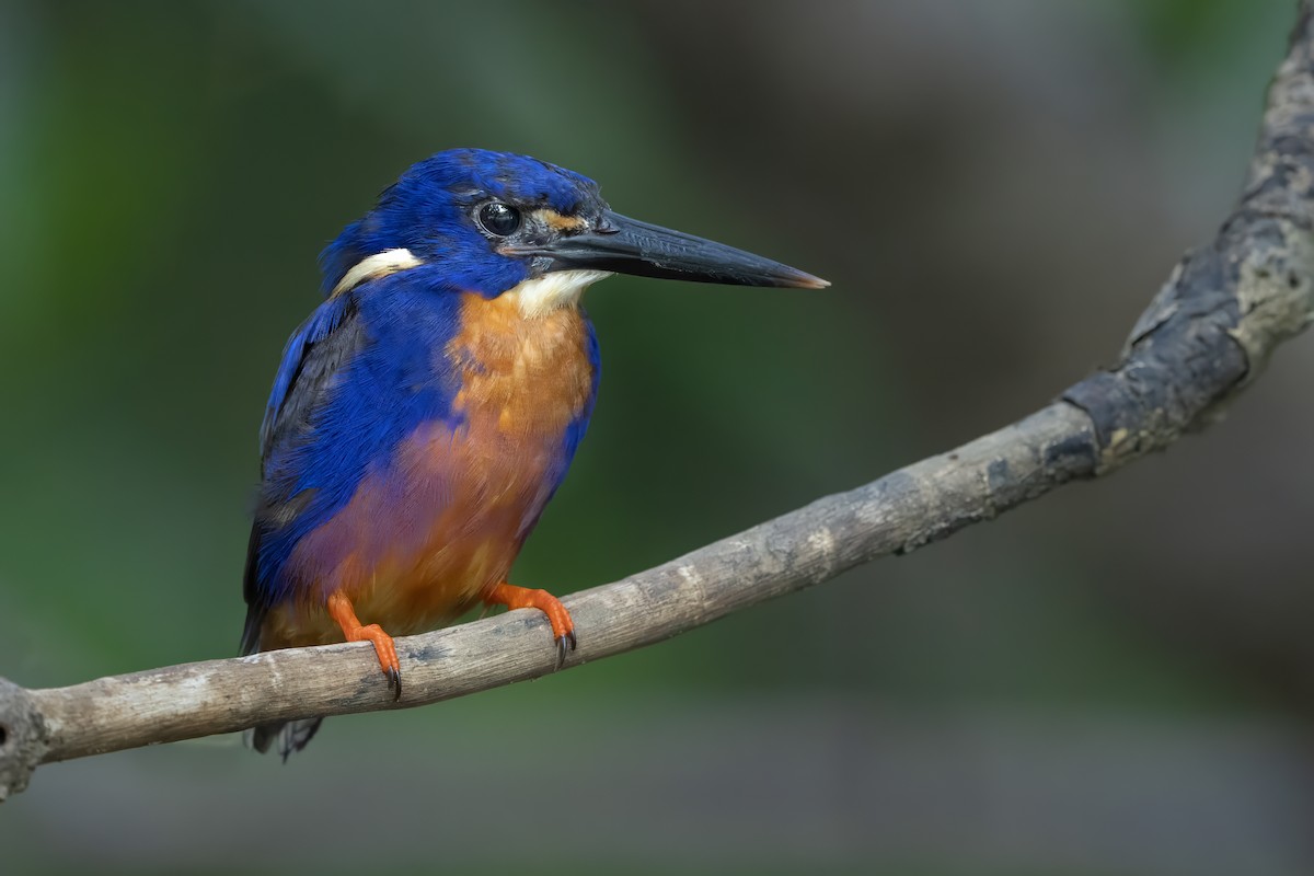
<path id="1" fill-rule="evenodd" d="M 611 273 L 741 286 L 827 281 L 614 213 L 598 184 L 526 155 L 448 150 L 413 165 L 321 255 L 326 294 L 442 265 L 453 290 L 515 290 L 528 310 L 574 303 Z"/>

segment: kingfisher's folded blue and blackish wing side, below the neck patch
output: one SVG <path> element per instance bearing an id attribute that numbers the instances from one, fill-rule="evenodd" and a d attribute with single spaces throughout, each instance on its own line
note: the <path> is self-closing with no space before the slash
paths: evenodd
<path id="1" fill-rule="evenodd" d="M 268 611 L 294 595 L 286 562 L 301 538 L 347 504 L 398 440 L 451 415 L 455 387 L 434 351 L 456 331 L 457 303 L 393 274 L 323 302 L 288 341 L 260 428 L 243 653 L 259 647 Z"/>

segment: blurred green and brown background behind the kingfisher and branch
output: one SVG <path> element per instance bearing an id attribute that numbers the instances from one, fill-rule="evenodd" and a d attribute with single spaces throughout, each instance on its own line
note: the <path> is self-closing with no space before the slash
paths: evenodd
<path id="1" fill-rule="evenodd" d="M 0 0 L 0 675 L 234 651 L 279 351 L 411 162 L 528 152 L 834 282 L 590 293 L 597 415 L 516 569 L 566 592 L 1110 362 L 1230 209 L 1293 7 Z M 0 868 L 1307 875 L 1311 366 L 1112 481 L 288 766 L 43 767 Z"/>

